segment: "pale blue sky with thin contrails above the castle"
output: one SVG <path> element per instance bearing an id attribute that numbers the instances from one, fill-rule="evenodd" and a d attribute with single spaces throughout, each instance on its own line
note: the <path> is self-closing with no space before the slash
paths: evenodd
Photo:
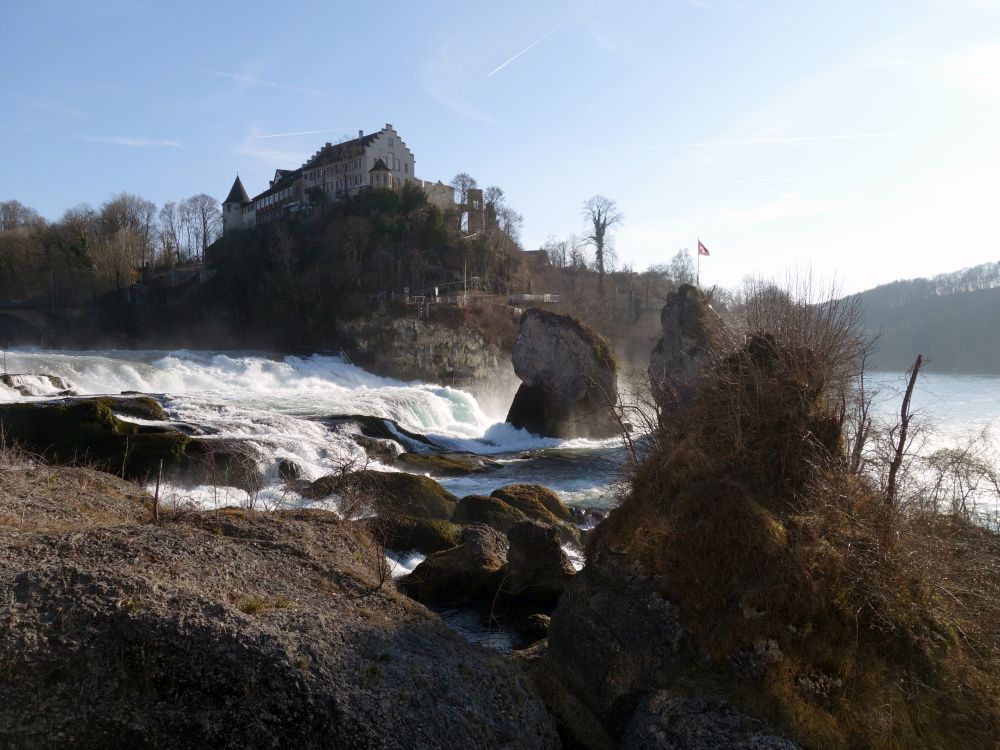
<path id="1" fill-rule="evenodd" d="M 619 262 L 700 236 L 705 285 L 1000 260 L 1000 0 L 0 2 L 0 200 L 48 218 L 255 193 L 391 122 L 529 248 L 602 193 Z"/>

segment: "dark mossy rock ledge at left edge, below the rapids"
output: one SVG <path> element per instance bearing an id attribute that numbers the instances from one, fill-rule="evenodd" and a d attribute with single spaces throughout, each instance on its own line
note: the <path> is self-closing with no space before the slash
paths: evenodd
<path id="1" fill-rule="evenodd" d="M 194 437 L 168 420 L 148 396 L 0 404 L 5 439 L 52 463 L 93 466 L 140 481 L 156 477 L 162 466 L 164 477 L 178 483 L 249 491 L 262 486 L 256 458 L 245 445 Z"/>

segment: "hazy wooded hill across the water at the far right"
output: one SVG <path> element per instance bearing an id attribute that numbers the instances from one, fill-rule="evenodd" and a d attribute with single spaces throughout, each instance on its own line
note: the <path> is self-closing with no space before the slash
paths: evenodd
<path id="1" fill-rule="evenodd" d="M 867 329 L 881 332 L 879 369 L 904 370 L 923 354 L 938 371 L 1000 373 L 1000 263 L 894 281 L 856 297 Z"/>

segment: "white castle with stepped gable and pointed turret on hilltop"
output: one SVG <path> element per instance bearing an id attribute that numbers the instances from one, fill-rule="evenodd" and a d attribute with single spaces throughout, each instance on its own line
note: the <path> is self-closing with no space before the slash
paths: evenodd
<path id="1" fill-rule="evenodd" d="M 441 181 L 425 182 L 414 173 L 413 152 L 391 124 L 377 133 L 343 143 L 326 143 L 298 169 L 277 169 L 267 190 L 250 198 L 239 175 L 222 203 L 222 231 L 252 229 L 302 210 L 320 196 L 357 195 L 366 188 L 398 190 L 411 184 L 442 210 L 455 205 L 455 191 Z"/>

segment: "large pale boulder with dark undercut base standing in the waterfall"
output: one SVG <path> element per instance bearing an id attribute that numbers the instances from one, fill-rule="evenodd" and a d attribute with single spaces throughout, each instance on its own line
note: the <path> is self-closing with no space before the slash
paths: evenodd
<path id="1" fill-rule="evenodd" d="M 511 353 L 521 387 L 507 421 L 548 437 L 609 437 L 619 430 L 617 364 L 608 342 L 568 315 L 527 310 Z"/>

